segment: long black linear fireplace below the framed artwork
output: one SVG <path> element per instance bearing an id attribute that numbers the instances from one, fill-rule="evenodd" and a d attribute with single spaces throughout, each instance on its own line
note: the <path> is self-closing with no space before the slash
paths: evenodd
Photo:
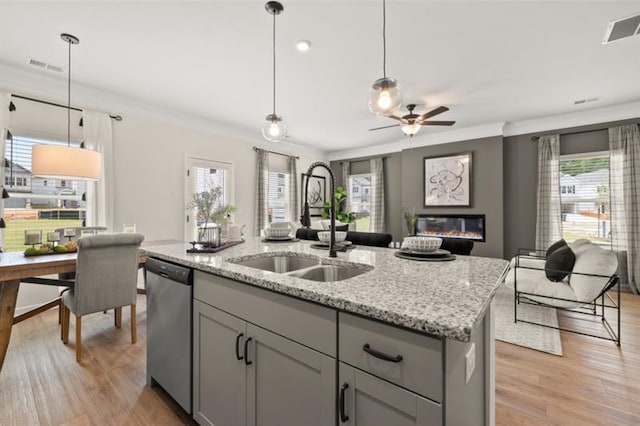
<path id="1" fill-rule="evenodd" d="M 416 235 L 485 241 L 483 214 L 420 214 Z"/>

